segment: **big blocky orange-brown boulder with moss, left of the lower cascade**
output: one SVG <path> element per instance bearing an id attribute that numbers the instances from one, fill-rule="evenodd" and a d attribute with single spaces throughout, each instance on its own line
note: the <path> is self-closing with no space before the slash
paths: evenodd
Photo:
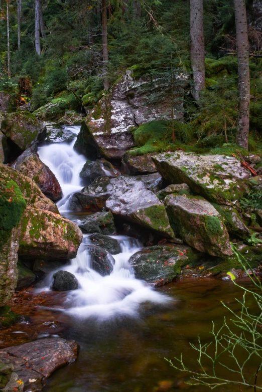
<path id="1" fill-rule="evenodd" d="M 27 207 L 21 224 L 19 255 L 44 259 L 73 259 L 82 241 L 76 225 L 50 211 Z"/>

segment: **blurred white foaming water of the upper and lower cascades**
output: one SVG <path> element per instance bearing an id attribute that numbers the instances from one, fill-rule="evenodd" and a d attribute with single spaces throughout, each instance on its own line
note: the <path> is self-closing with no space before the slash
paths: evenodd
<path id="1" fill-rule="evenodd" d="M 80 127 L 70 127 L 70 130 L 77 134 Z M 41 160 L 56 175 L 63 190 L 63 199 L 57 204 L 60 212 L 67 210 L 69 195 L 82 189 L 79 172 L 86 159 L 73 150 L 74 143 L 75 140 L 71 144 L 54 143 L 39 148 Z M 140 305 L 147 301 L 158 304 L 169 301 L 169 297 L 135 279 L 128 260 L 141 249 L 138 240 L 111 236 L 119 241 L 122 252 L 113 256 L 115 264 L 111 274 L 101 276 L 90 267 L 90 256 L 85 247 L 89 243 L 88 237 L 83 235 L 77 257 L 71 260 L 69 266 L 63 267 L 64 271 L 75 275 L 79 289 L 68 292 L 65 309 L 61 310 L 81 319 L 92 316 L 104 320 L 121 314 L 137 316 Z M 44 279 L 40 290 L 50 290 L 54 272 Z"/>

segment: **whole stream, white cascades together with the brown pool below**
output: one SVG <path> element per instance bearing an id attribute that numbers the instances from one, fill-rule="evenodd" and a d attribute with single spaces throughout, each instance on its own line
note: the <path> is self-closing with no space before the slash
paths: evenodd
<path id="1" fill-rule="evenodd" d="M 80 130 L 76 126 L 66 128 L 76 135 Z M 74 142 L 43 145 L 38 151 L 63 189 L 57 206 L 69 219 L 83 217 L 83 213 L 67 209 L 70 195 L 83 187 L 79 172 L 86 161 L 73 150 Z M 63 267 L 76 276 L 78 290 L 52 292 L 53 271 L 40 286 L 17 295 L 15 310 L 27 314 L 31 323 L 11 328 L 12 344 L 33 340 L 38 330 L 38 338 L 59 335 L 80 345 L 77 361 L 57 370 L 43 392 L 209 390 L 186 385 L 187 375 L 172 368 L 165 358 L 183 352 L 187 364 L 197 370 L 197 353 L 190 343 L 198 344 L 198 336 L 204 343 L 210 340 L 212 321 L 218 328 L 223 317 L 230 315 L 221 301 L 237 311 L 234 298 L 241 298 L 241 290 L 231 281 L 212 278 L 187 278 L 154 289 L 135 279 L 128 264 L 142 244 L 126 236 L 112 237 L 119 241 L 121 253 L 114 255 L 109 276 L 102 277 L 91 269 L 85 247 L 89 236 L 83 235 L 77 257 Z M 7 346 L 8 337 L 2 337 L 1 343 Z M 225 360 L 228 363 L 228 358 Z M 224 373 L 228 375 L 227 370 Z M 239 388 L 225 385 L 215 390 L 236 392 Z"/>

